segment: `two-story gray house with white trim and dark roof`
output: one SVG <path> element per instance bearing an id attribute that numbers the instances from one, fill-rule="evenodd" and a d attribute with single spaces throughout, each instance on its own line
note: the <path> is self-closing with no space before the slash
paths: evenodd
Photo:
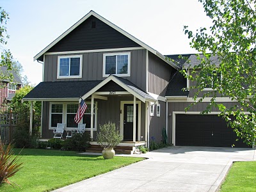
<path id="1" fill-rule="evenodd" d="M 152 137 L 159 142 L 164 127 L 173 145 L 233 144 L 232 137 L 222 138 L 233 132 L 222 130 L 227 125 L 217 116 L 218 111 L 199 115 L 206 103 L 184 113 L 193 93 L 182 92 L 189 84 L 178 72 L 182 66 L 93 11 L 36 54 L 34 60 L 43 63 L 43 81 L 23 100 L 42 101 L 44 139 L 52 138 L 57 123 L 65 123 L 66 131 L 77 127 L 74 116 L 81 97 L 88 108 L 79 124 L 86 124 L 92 144 L 99 125 L 108 121 L 120 127 L 124 136 L 120 145 L 124 146 L 148 146 Z M 220 102 L 230 101 L 225 98 Z M 216 128 L 220 125 L 221 132 Z"/>

